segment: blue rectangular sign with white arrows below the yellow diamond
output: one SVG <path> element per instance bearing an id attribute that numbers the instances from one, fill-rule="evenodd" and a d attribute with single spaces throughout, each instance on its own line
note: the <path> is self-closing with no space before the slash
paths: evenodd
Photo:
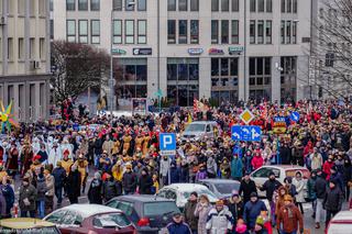
<path id="1" fill-rule="evenodd" d="M 231 138 L 233 141 L 260 142 L 261 137 L 262 129 L 260 126 L 233 125 L 231 127 Z"/>

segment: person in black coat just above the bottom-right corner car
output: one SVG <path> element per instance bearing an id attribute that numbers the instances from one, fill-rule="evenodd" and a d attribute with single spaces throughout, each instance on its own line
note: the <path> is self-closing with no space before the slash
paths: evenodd
<path id="1" fill-rule="evenodd" d="M 341 211 L 343 202 L 343 192 L 338 186 L 337 180 L 330 180 L 329 188 L 322 202 L 323 209 L 327 211 L 326 227 L 329 225 L 331 218 Z"/>

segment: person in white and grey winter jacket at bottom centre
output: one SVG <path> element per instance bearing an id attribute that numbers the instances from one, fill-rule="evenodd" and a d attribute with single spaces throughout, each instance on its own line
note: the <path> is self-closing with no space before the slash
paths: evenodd
<path id="1" fill-rule="evenodd" d="M 222 200 L 217 201 L 216 207 L 209 211 L 206 229 L 210 234 L 231 233 L 232 214 Z"/>

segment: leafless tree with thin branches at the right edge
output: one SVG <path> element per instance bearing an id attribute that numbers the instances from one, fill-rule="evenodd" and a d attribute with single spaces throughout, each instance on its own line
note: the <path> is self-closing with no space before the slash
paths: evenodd
<path id="1" fill-rule="evenodd" d="M 315 85 L 334 98 L 352 88 L 352 0 L 319 0 L 310 54 Z"/>

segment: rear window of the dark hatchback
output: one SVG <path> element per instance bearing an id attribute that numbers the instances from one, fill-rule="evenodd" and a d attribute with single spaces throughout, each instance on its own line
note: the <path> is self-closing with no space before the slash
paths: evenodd
<path id="1" fill-rule="evenodd" d="M 179 210 L 173 201 L 144 203 L 144 216 L 172 214 L 174 212 L 179 212 Z"/>

